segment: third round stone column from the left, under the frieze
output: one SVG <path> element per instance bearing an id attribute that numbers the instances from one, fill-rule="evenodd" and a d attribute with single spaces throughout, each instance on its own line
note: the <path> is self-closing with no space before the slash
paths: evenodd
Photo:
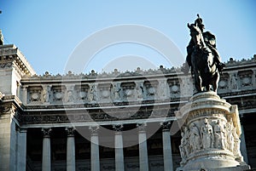
<path id="1" fill-rule="evenodd" d="M 90 170 L 100 170 L 100 154 L 99 154 L 99 137 L 98 131 L 99 126 L 90 127 Z"/>

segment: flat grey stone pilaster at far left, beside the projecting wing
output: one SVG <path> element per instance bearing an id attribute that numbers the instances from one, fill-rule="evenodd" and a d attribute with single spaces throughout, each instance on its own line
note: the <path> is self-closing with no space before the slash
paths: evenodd
<path id="1" fill-rule="evenodd" d="M 18 128 L 17 144 L 17 168 L 20 171 L 26 171 L 26 129 Z"/>

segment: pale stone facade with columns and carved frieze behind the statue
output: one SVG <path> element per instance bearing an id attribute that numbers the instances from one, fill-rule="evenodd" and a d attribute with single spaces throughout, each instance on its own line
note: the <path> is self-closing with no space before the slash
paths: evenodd
<path id="1" fill-rule="evenodd" d="M 241 154 L 235 160 L 242 156 L 252 167 L 256 138 L 247 132 L 256 129 L 255 76 L 256 56 L 230 59 L 218 89 L 222 99 L 239 109 L 241 127 L 235 128 L 241 133 Z M 187 161 L 179 153 L 185 128 L 175 126 L 175 111 L 189 102 L 194 87 L 180 68 L 38 76 L 15 45 L 1 45 L 0 77 L 0 170 L 172 170 Z M 203 122 L 189 123 L 189 130 L 201 131 Z M 227 147 L 222 138 L 227 133 L 221 127 L 230 118 L 208 122 L 214 139 L 218 134 L 211 145 L 234 154 L 240 143 L 234 140 Z M 189 152 L 204 147 L 193 145 Z"/>

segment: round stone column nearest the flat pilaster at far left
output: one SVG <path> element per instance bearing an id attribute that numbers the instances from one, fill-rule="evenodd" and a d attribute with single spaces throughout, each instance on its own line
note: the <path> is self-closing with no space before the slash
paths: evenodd
<path id="1" fill-rule="evenodd" d="M 51 170 L 50 166 L 50 133 L 51 128 L 42 128 L 43 138 L 43 157 L 42 157 L 42 171 Z"/>

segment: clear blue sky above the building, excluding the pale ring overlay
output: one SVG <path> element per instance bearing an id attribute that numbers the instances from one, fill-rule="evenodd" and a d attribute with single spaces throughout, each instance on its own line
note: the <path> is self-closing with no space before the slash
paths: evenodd
<path id="1" fill-rule="evenodd" d="M 254 0 L 0 0 L 0 29 L 5 43 L 20 48 L 38 75 L 45 71 L 63 74 L 73 50 L 84 39 L 127 24 L 147 26 L 166 35 L 183 54 L 182 63 L 190 39 L 187 23 L 194 22 L 199 13 L 206 30 L 217 37 L 222 60 L 241 60 L 256 54 L 255 5 Z M 84 72 L 133 71 L 137 66 L 169 68 L 171 63 L 153 48 L 116 43 L 92 56 Z"/>

